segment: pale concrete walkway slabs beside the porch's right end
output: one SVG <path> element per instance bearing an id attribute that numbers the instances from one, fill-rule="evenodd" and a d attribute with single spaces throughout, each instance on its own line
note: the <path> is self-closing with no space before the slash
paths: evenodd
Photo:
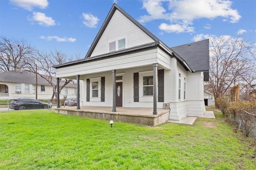
<path id="1" fill-rule="evenodd" d="M 215 119 L 213 111 L 205 111 L 203 116 L 200 116 L 202 118 L 212 118 Z M 182 118 L 181 120 L 168 120 L 166 122 L 170 123 L 182 123 L 186 125 L 193 125 L 194 121 L 196 121 L 198 117 L 192 117 L 192 116 L 187 116 Z"/>

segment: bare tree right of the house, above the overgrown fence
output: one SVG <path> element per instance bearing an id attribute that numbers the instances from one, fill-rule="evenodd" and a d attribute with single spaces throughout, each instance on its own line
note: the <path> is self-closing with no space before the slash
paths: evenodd
<path id="1" fill-rule="evenodd" d="M 255 58 L 250 50 L 253 47 L 251 43 L 243 37 L 233 39 L 227 36 L 210 39 L 210 42 L 208 90 L 215 99 L 222 97 L 239 82 L 251 84 L 255 81 Z"/>

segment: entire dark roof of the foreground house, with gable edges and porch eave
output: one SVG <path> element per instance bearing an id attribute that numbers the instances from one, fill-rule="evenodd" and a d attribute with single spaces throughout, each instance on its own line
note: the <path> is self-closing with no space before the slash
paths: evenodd
<path id="1" fill-rule="evenodd" d="M 136 47 L 131 47 L 128 49 L 122 49 L 118 51 L 113 51 L 109 53 L 105 53 L 102 55 L 90 57 L 92 52 L 94 51 L 98 41 L 100 40 L 102 34 L 104 33 L 104 30 L 108 26 L 108 23 L 110 22 L 112 16 L 114 15 L 115 11 L 119 10 L 126 18 L 128 18 L 132 23 L 134 23 L 137 27 L 139 27 L 144 33 L 146 33 L 150 38 L 152 38 L 155 42 L 148 43 L 148 44 L 142 44 Z M 207 43 L 208 42 L 208 43 Z M 104 21 L 102 27 L 100 28 L 100 31 L 96 35 L 90 49 L 88 50 L 88 53 L 86 54 L 84 59 L 80 59 L 77 61 L 71 61 L 68 63 L 58 64 L 53 66 L 54 68 L 63 67 L 63 66 L 70 66 L 74 64 L 79 63 L 85 63 L 95 60 L 102 60 L 105 57 L 118 57 L 122 55 L 122 53 L 131 53 L 135 52 L 136 50 L 151 48 L 151 47 L 160 47 L 166 53 L 168 53 L 171 57 L 175 57 L 180 64 L 188 71 L 190 72 L 196 72 L 196 71 L 208 71 L 209 70 L 209 40 L 203 40 L 202 42 L 198 41 L 195 43 L 190 43 L 190 45 L 193 44 L 193 47 L 187 47 L 188 45 L 180 45 L 177 47 L 168 47 L 165 45 L 162 41 L 160 41 L 155 35 L 153 35 L 150 31 L 148 31 L 144 26 L 142 26 L 138 21 L 134 20 L 129 14 L 127 14 L 122 8 L 120 8 L 115 3 L 113 4 L 110 12 L 108 13 L 108 16 L 106 17 L 106 20 Z M 194 47 L 196 45 L 199 45 L 198 47 Z M 207 46 L 208 45 L 208 46 Z M 174 51 L 175 49 L 176 51 Z M 208 52 L 208 53 L 207 53 Z M 198 54 L 197 54 L 198 53 Z M 196 59 L 196 61 L 194 61 Z M 207 63 L 208 60 L 208 63 Z M 202 62 L 203 61 L 203 62 Z M 194 65 L 195 64 L 195 65 Z M 202 66 L 202 64 L 204 66 Z M 193 66 L 193 68 L 192 68 Z M 204 72 L 204 73 L 206 73 Z M 208 74 L 205 74 L 205 81 L 207 81 Z"/>

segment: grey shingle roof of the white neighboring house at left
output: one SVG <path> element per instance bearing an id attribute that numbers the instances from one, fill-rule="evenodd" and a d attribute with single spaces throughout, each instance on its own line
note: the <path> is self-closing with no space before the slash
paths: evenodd
<path id="1" fill-rule="evenodd" d="M 25 83 L 25 84 L 36 84 L 36 74 L 31 72 L 22 71 L 7 71 L 0 73 L 0 82 L 11 82 L 11 83 Z M 37 76 L 37 84 L 43 86 L 50 86 L 40 75 Z M 76 87 L 73 84 L 67 84 L 67 87 Z"/>

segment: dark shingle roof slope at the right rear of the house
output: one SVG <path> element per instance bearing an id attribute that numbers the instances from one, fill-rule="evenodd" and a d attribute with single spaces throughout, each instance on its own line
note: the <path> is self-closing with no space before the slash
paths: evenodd
<path id="1" fill-rule="evenodd" d="M 171 47 L 171 49 L 188 63 L 193 72 L 210 69 L 209 39 Z"/>

